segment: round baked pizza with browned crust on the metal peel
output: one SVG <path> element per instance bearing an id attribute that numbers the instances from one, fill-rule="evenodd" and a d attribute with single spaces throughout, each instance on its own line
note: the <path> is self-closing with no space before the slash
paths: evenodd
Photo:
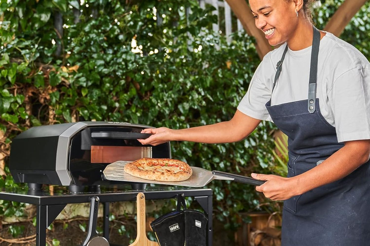
<path id="1" fill-rule="evenodd" d="M 193 173 L 187 163 L 167 158 L 141 158 L 127 163 L 124 170 L 138 178 L 168 182 L 187 180 Z"/>

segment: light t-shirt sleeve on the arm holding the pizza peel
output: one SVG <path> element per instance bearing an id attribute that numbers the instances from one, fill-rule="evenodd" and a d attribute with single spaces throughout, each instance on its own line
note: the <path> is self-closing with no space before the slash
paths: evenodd
<path id="1" fill-rule="evenodd" d="M 328 93 L 338 142 L 370 139 L 370 69 L 339 76 Z"/>

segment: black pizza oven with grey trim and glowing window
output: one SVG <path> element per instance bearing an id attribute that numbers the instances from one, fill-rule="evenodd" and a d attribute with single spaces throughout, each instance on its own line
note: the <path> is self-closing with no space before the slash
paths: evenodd
<path id="1" fill-rule="evenodd" d="M 9 169 L 14 181 L 61 186 L 117 184 L 102 179 L 105 167 L 117 160 L 171 158 L 169 142 L 142 145 L 147 125 L 127 122 L 75 122 L 32 127 L 11 143 Z"/>

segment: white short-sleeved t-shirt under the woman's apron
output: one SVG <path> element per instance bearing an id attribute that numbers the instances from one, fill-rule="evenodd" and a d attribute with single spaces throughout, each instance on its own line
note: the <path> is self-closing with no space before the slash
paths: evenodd
<path id="1" fill-rule="evenodd" d="M 265 104 L 271 98 L 276 63 L 286 44 L 265 55 L 238 110 L 272 121 Z M 306 100 L 311 48 L 288 48 L 271 105 Z M 316 97 L 323 117 L 336 128 L 338 142 L 370 139 L 370 63 L 356 48 L 330 32 L 320 41 Z"/>

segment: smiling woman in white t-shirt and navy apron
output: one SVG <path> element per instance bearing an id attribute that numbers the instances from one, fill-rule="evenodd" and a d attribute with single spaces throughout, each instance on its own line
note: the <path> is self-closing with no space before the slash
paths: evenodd
<path id="1" fill-rule="evenodd" d="M 282 245 L 370 245 L 370 63 L 313 27 L 310 0 L 249 4 L 269 44 L 282 45 L 263 58 L 234 117 L 145 129 L 153 135 L 140 142 L 235 142 L 273 121 L 288 136 L 288 176 L 252 177 L 266 180 L 257 191 L 284 200 Z"/>

